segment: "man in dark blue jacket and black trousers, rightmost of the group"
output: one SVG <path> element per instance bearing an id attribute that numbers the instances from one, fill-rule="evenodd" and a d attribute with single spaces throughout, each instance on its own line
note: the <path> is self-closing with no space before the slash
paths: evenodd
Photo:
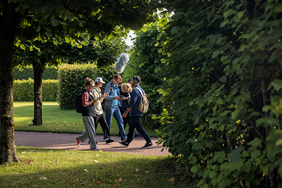
<path id="1" fill-rule="evenodd" d="M 130 103 L 126 109 L 126 111 L 122 114 L 122 117 L 126 117 L 127 113 L 129 112 L 129 116 L 131 118 L 131 124 L 129 125 L 129 133 L 127 136 L 127 139 L 122 142 L 118 142 L 123 147 L 129 147 L 130 142 L 132 142 L 134 138 L 135 129 L 141 134 L 141 136 L 146 140 L 145 146 L 141 147 L 142 149 L 148 149 L 153 147 L 153 143 L 151 141 L 150 136 L 144 129 L 142 123 L 141 123 L 141 117 L 143 116 L 143 113 L 140 112 L 137 108 L 139 105 L 140 99 L 141 99 L 141 93 L 137 88 L 139 88 L 142 91 L 142 94 L 144 95 L 144 90 L 139 86 L 141 79 L 139 76 L 133 76 L 131 79 L 131 85 L 134 88 L 131 91 L 131 97 L 130 97 Z"/>

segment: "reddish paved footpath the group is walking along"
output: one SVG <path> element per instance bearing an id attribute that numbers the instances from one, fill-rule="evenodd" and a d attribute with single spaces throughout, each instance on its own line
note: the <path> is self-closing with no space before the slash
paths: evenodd
<path id="1" fill-rule="evenodd" d="M 76 137 L 79 134 L 61 134 L 61 133 L 40 133 L 40 132 L 21 132 L 15 131 L 16 146 L 27 146 L 35 148 L 50 148 L 50 149 L 64 149 L 64 150 L 90 150 L 88 140 L 81 142 L 81 147 L 77 145 Z M 122 147 L 118 144 L 120 137 L 111 136 L 115 140 L 110 144 L 103 142 L 103 136 L 97 135 L 97 147 L 101 148 L 103 152 L 119 152 L 119 153 L 133 153 L 139 155 L 168 155 L 168 149 L 163 145 L 157 145 L 158 138 L 151 138 L 154 147 L 149 149 L 141 149 L 146 144 L 143 137 L 135 137 L 130 143 L 129 148 Z M 162 152 L 162 149 L 164 151 Z"/>

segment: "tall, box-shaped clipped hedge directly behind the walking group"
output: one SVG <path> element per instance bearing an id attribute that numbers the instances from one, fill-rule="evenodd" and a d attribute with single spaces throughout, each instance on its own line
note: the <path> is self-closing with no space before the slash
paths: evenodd
<path id="1" fill-rule="evenodd" d="M 74 109 L 75 98 L 81 94 L 85 87 L 85 78 L 93 81 L 101 77 L 108 83 L 114 75 L 113 66 L 98 69 L 93 64 L 73 64 L 60 66 L 58 69 L 59 87 L 58 102 L 61 109 Z"/>

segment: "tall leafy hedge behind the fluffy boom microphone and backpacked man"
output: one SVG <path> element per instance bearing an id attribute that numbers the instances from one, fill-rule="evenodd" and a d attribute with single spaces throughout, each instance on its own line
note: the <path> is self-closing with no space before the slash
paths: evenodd
<path id="1" fill-rule="evenodd" d="M 163 34 L 162 28 L 156 24 L 146 26 L 137 32 L 133 43 L 134 47 L 131 49 L 129 63 L 152 75 L 159 76 L 160 69 L 163 66 L 161 59 L 166 56 L 158 53 L 161 47 L 157 47 L 155 44 L 160 42 L 157 37 Z M 158 120 L 152 119 L 152 117 L 154 114 L 160 115 L 162 112 L 162 103 L 157 103 L 161 97 L 157 90 L 164 88 L 164 82 L 128 65 L 123 73 L 123 82 L 126 82 L 134 75 L 138 75 L 141 78 L 140 86 L 144 89 L 150 102 L 148 112 L 142 117 L 143 125 L 149 129 L 156 130 L 160 127 L 160 123 Z"/>

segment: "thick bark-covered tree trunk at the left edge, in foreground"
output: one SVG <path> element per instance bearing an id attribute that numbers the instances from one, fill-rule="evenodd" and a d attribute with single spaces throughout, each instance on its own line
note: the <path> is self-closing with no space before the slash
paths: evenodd
<path id="1" fill-rule="evenodd" d="M 15 4 L 3 1 L 0 15 L 0 164 L 19 162 L 15 149 L 13 110 L 13 61 L 16 29 L 20 17 Z"/>

